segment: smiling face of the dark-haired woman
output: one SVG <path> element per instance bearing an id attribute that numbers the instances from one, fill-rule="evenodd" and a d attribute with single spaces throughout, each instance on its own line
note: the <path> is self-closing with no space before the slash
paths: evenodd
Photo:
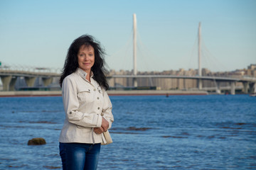
<path id="1" fill-rule="evenodd" d="M 90 46 L 82 45 L 78 52 L 78 67 L 83 71 L 90 74 L 90 70 L 95 63 L 94 48 Z"/>

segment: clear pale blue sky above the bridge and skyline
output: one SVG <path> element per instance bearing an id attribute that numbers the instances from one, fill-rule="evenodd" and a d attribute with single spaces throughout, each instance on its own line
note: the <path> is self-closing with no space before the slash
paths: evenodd
<path id="1" fill-rule="evenodd" d="M 90 34 L 107 69 L 132 70 L 133 13 L 137 70 L 233 71 L 256 64 L 255 0 L 0 0 L 2 66 L 62 69 L 70 44 Z"/>

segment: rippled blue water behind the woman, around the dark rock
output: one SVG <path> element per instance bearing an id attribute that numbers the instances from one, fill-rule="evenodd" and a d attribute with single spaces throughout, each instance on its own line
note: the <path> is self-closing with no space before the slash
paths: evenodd
<path id="1" fill-rule="evenodd" d="M 98 169 L 256 169 L 255 97 L 110 98 L 114 142 Z M 61 169 L 63 119 L 61 97 L 0 98 L 0 169 Z"/>

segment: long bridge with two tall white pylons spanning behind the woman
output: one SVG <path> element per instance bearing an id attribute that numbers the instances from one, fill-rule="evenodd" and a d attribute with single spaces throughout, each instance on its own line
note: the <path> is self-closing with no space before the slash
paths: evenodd
<path id="1" fill-rule="evenodd" d="M 245 94 L 256 91 L 256 78 L 255 77 L 206 77 L 202 76 L 201 69 L 201 23 L 198 27 L 198 75 L 196 76 L 183 76 L 183 75 L 139 75 L 137 74 L 137 19 L 134 14 L 134 34 L 133 34 L 133 74 L 132 75 L 110 75 L 107 79 L 132 79 L 133 86 L 138 86 L 137 79 L 148 78 L 148 79 L 196 79 L 198 81 L 198 89 L 203 90 L 203 80 L 214 81 L 216 84 L 216 92 L 220 93 L 220 82 L 230 83 L 230 94 L 235 94 L 235 83 L 242 82 L 243 91 Z M 33 68 L 32 70 L 17 69 L 20 67 L 5 67 L 0 66 L 0 77 L 3 83 L 4 91 L 14 91 L 14 85 L 17 77 L 23 77 L 28 87 L 32 87 L 37 77 L 41 77 L 43 85 L 48 86 L 52 83 L 54 77 L 60 77 L 60 74 L 53 72 L 47 68 Z M 25 68 L 27 69 L 27 68 Z M 204 87 L 206 88 L 206 87 Z"/>

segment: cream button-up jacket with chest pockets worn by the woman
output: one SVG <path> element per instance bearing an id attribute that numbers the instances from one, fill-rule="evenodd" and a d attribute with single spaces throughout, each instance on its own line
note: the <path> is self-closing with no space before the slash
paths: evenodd
<path id="1" fill-rule="evenodd" d="M 114 117 L 112 103 L 105 89 L 87 73 L 77 69 L 65 77 L 62 84 L 65 122 L 60 132 L 59 142 L 101 143 L 105 142 L 103 134 L 97 135 L 93 128 L 100 128 L 104 117 L 111 128 Z"/>

